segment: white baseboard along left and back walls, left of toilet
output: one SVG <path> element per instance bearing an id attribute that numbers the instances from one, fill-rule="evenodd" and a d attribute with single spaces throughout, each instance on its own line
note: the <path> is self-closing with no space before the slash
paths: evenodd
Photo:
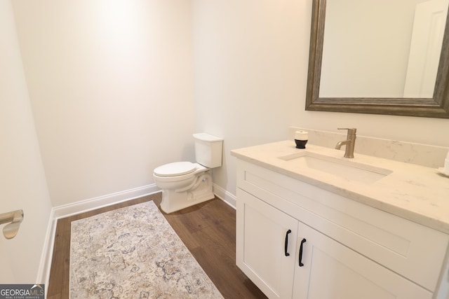
<path id="1" fill-rule="evenodd" d="M 156 184 L 152 184 L 109 195 L 94 197 L 88 200 L 82 200 L 80 202 L 74 202 L 72 204 L 65 204 L 60 207 L 53 207 L 53 209 L 51 209 L 50 219 L 48 221 L 46 239 L 43 244 L 41 263 L 39 265 L 36 281 L 45 284 L 46 288 L 48 288 L 51 260 L 53 258 L 53 246 L 55 242 L 56 224 L 59 218 L 65 218 L 67 216 L 83 213 L 85 211 L 107 207 L 111 204 L 117 204 L 119 202 L 126 202 L 127 200 L 133 200 L 138 197 L 157 193 L 160 190 L 161 189 L 159 189 Z"/>

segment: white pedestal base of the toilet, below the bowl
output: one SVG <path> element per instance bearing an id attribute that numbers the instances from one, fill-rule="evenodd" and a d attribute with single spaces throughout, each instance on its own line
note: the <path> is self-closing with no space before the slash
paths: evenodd
<path id="1" fill-rule="evenodd" d="M 176 192 L 176 190 L 163 189 L 161 210 L 170 214 L 194 204 L 212 200 L 215 197 L 212 187 L 212 176 L 208 171 L 198 177 L 198 184 L 190 190 Z"/>

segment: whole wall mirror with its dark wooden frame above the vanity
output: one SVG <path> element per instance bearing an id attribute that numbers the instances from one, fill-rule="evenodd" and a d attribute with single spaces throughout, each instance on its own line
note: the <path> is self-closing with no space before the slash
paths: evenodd
<path id="1" fill-rule="evenodd" d="M 392 0 L 373 1 L 314 0 L 306 110 L 449 118 L 448 0 L 398 4 L 396 12 Z M 420 12 L 428 11 L 422 8 L 427 2 L 440 3 L 440 16 L 424 22 L 430 25 L 423 29 Z M 436 37 L 424 45 L 422 64 L 417 53 L 429 30 Z M 377 39 L 386 36 L 389 40 Z"/>

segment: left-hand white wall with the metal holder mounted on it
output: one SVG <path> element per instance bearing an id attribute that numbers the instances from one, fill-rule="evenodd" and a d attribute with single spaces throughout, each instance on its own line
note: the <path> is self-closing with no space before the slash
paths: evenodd
<path id="1" fill-rule="evenodd" d="M 36 277 L 51 202 L 11 1 L 0 1 L 0 49 L 0 214 L 16 209 L 25 214 L 15 238 L 0 233 L 0 284 L 43 283 Z"/>

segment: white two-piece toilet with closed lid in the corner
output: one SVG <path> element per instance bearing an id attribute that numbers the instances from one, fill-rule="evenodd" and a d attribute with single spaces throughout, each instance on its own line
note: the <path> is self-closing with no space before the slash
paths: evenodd
<path id="1" fill-rule="evenodd" d="M 172 213 L 212 200 L 212 168 L 222 166 L 223 139 L 193 134 L 196 162 L 173 162 L 156 167 L 154 183 L 162 189 L 162 211 Z"/>

